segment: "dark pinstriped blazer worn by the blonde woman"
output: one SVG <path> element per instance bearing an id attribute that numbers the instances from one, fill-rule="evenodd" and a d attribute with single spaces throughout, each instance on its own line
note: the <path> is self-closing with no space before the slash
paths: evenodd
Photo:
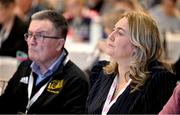
<path id="1" fill-rule="evenodd" d="M 90 92 L 87 99 L 86 113 L 100 114 L 110 90 L 115 74 L 105 75 L 102 67 L 107 62 L 99 62 L 92 69 Z M 157 62 L 150 67 L 151 74 L 139 91 L 130 93 L 128 86 L 111 106 L 108 114 L 158 113 L 171 96 L 176 86 L 176 77 L 163 68 L 156 68 Z"/>

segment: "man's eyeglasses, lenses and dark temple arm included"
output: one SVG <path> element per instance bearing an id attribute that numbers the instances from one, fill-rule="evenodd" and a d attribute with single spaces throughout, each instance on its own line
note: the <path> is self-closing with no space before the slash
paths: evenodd
<path id="1" fill-rule="evenodd" d="M 26 41 L 28 41 L 30 38 L 32 38 L 35 40 L 35 41 L 42 41 L 44 38 L 52 38 L 52 39 L 62 39 L 61 37 L 57 37 L 57 36 L 46 36 L 42 33 L 36 33 L 33 35 L 33 33 L 25 33 L 24 34 L 24 39 Z"/>

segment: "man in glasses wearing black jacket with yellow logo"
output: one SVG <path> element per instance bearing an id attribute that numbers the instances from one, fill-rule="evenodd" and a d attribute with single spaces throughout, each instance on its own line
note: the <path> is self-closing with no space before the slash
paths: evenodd
<path id="1" fill-rule="evenodd" d="M 0 97 L 1 113 L 83 113 L 88 93 L 85 74 L 64 48 L 65 18 L 44 10 L 31 17 L 25 40 L 29 59 L 19 66 Z"/>

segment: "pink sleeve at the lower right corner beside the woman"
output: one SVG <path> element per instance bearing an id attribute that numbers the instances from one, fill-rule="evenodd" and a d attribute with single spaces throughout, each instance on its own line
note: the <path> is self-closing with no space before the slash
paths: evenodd
<path id="1" fill-rule="evenodd" d="M 180 114 L 180 84 L 178 84 L 170 99 L 159 114 Z"/>

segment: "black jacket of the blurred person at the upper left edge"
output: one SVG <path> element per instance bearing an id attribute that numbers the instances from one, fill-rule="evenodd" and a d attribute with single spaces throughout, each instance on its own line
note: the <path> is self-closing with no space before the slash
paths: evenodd
<path id="1" fill-rule="evenodd" d="M 27 53 L 27 43 L 24 40 L 24 33 L 27 32 L 27 29 L 27 24 L 15 16 L 11 32 L 1 45 L 0 56 L 16 57 L 18 50 Z"/>

